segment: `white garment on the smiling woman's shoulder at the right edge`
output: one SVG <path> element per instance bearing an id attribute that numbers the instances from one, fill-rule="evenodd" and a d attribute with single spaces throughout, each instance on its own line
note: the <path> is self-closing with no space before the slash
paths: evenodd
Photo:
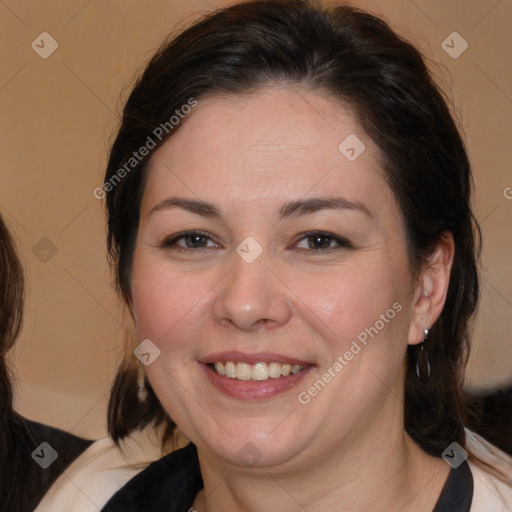
<path id="1" fill-rule="evenodd" d="M 474 486 L 470 512 L 512 511 L 512 457 L 468 429 L 466 443 L 468 451 L 484 463 L 468 461 Z"/>

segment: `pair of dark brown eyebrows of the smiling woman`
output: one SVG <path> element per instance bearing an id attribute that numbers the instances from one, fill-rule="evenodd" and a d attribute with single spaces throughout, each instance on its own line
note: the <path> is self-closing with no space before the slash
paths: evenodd
<path id="1" fill-rule="evenodd" d="M 223 216 L 222 210 L 212 203 L 181 197 L 168 197 L 164 199 L 151 209 L 149 215 L 171 208 L 182 208 L 196 215 L 213 219 L 220 219 Z M 374 217 L 372 211 L 364 204 L 357 201 L 349 201 L 343 197 L 312 197 L 291 201 L 281 206 L 278 215 L 279 219 L 285 219 L 309 215 L 321 210 L 355 210 L 364 213 L 368 217 Z"/>

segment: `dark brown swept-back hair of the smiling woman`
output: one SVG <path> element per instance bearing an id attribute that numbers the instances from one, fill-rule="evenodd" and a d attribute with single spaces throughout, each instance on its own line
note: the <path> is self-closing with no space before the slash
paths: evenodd
<path id="1" fill-rule="evenodd" d="M 416 347 L 408 348 L 405 428 L 434 455 L 453 441 L 464 446 L 461 388 L 469 321 L 478 301 L 479 230 L 470 208 L 470 165 L 424 59 L 384 21 L 351 6 L 324 8 L 305 0 L 245 2 L 206 16 L 166 42 L 133 88 L 105 182 L 112 183 L 155 128 L 191 98 L 200 102 L 205 95 L 245 94 L 276 83 L 326 93 L 353 109 L 380 149 L 385 177 L 404 218 L 413 274 L 442 236 L 453 235 L 448 296 L 428 339 L 428 381 L 416 376 Z M 156 148 L 182 123 L 165 133 Z M 105 188 L 109 255 L 125 299 L 130 297 L 150 157 L 141 158 L 115 186 Z M 173 428 L 150 387 L 147 403 L 134 403 L 135 363 L 133 356 L 127 359 L 114 383 L 109 430 L 115 440 L 152 422 L 166 421 L 168 432 Z"/>

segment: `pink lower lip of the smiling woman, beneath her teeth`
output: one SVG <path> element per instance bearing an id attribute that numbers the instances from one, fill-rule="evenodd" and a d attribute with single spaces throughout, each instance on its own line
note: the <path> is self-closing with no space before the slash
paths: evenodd
<path id="1" fill-rule="evenodd" d="M 314 366 L 308 366 L 295 375 L 269 378 L 264 381 L 230 379 L 219 375 L 208 365 L 201 363 L 210 382 L 222 393 L 239 400 L 265 400 L 295 387 Z"/>

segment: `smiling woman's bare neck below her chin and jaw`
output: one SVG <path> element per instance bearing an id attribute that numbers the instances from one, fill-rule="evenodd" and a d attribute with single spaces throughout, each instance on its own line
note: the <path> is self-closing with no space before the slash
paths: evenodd
<path id="1" fill-rule="evenodd" d="M 312 447 L 308 456 L 298 455 L 286 467 L 233 467 L 199 449 L 204 489 L 194 509 L 431 511 L 449 466 L 423 452 L 405 433 L 402 404 L 396 396 L 390 397 L 391 407 L 383 404 L 335 450 Z"/>

